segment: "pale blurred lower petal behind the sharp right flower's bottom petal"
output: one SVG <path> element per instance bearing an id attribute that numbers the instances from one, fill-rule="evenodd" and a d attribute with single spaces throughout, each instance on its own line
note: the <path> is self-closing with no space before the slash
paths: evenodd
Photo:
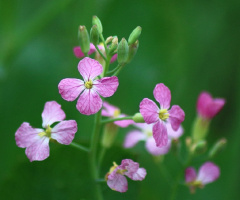
<path id="1" fill-rule="evenodd" d="M 171 140 L 168 140 L 167 145 L 163 147 L 157 147 L 156 142 L 153 137 L 150 137 L 146 141 L 146 148 L 148 152 L 152 155 L 164 155 L 167 154 L 171 147 Z"/>

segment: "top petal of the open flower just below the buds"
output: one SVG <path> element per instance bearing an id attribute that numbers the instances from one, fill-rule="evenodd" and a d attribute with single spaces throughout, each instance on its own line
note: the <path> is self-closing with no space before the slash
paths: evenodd
<path id="1" fill-rule="evenodd" d="M 78 63 L 78 71 L 84 81 L 93 80 L 102 73 L 102 65 L 92 58 L 85 57 Z"/>

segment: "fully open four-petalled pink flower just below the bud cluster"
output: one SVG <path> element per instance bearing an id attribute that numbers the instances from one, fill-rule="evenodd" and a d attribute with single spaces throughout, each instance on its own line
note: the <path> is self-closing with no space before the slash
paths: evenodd
<path id="1" fill-rule="evenodd" d="M 58 84 L 59 93 L 67 101 L 74 101 L 79 95 L 77 109 L 84 115 L 92 115 L 102 107 L 103 97 L 112 96 L 118 87 L 116 76 L 96 79 L 102 71 L 102 65 L 91 58 L 84 58 L 78 64 L 78 71 L 84 81 L 75 78 L 65 78 Z"/>

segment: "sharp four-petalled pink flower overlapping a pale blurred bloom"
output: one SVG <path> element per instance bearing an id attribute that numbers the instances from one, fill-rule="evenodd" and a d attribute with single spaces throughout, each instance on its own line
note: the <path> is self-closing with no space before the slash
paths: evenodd
<path id="1" fill-rule="evenodd" d="M 171 92 L 163 83 L 156 85 L 153 95 L 160 103 L 160 109 L 152 100 L 144 98 L 140 103 L 140 113 L 147 124 L 154 124 L 153 138 L 158 147 L 163 147 L 168 143 L 166 122 L 169 122 L 172 129 L 176 131 L 183 122 L 185 113 L 176 105 L 168 110 L 171 102 Z"/>

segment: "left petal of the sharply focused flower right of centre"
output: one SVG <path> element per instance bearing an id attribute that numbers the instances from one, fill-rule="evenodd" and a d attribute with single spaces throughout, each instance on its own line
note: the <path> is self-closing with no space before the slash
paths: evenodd
<path id="1" fill-rule="evenodd" d="M 147 124 L 151 124 L 159 120 L 159 108 L 152 100 L 144 98 L 141 101 L 139 107 L 140 113 L 142 114 L 143 119 Z"/>

